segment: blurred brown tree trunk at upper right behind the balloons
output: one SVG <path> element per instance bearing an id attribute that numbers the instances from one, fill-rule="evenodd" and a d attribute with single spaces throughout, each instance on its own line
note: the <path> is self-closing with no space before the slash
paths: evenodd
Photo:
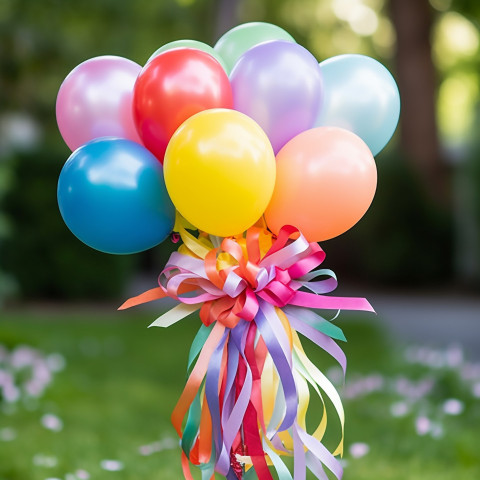
<path id="1" fill-rule="evenodd" d="M 432 60 L 434 10 L 428 0 L 390 0 L 396 31 L 396 78 L 402 99 L 401 147 L 430 196 L 449 205 L 448 172 L 436 120 Z"/>

